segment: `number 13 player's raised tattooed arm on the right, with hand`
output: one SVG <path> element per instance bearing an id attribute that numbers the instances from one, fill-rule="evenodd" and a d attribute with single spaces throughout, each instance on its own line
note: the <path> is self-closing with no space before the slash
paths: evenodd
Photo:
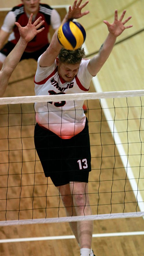
<path id="1" fill-rule="evenodd" d="M 114 22 L 112 24 L 109 24 L 109 22 L 106 20 L 103 21 L 107 25 L 109 34 L 105 42 L 102 44 L 98 54 L 95 55 L 88 63 L 88 71 L 92 76 L 95 76 L 98 73 L 98 71 L 100 71 L 101 67 L 104 65 L 105 61 L 107 60 L 113 49 L 116 38 L 125 29 L 132 27 L 132 25 L 124 26 L 125 23 L 131 19 L 131 16 L 129 16 L 126 20 L 122 21 L 125 13 L 126 10 L 123 11 L 122 15 L 120 16 L 120 19 L 118 20 L 118 11 L 115 10 Z"/>

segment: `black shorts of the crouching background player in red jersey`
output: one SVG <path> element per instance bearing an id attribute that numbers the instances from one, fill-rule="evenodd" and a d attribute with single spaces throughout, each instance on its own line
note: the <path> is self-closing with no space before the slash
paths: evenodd
<path id="1" fill-rule="evenodd" d="M 3 46 L 0 52 L 3 53 L 5 56 L 7 56 L 14 49 L 14 46 L 15 44 L 13 44 L 12 42 L 8 42 L 7 44 L 5 44 L 5 46 Z M 46 51 L 48 46 L 49 44 L 47 44 L 46 46 L 42 47 L 41 49 L 35 52 L 24 52 L 22 54 L 20 61 L 24 59 L 35 59 L 37 61 L 39 56 L 41 56 L 41 54 L 43 54 L 43 52 Z"/>

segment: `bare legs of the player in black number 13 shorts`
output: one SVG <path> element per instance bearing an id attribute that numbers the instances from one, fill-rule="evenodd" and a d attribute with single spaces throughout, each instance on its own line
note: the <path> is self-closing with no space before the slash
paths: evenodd
<path id="1" fill-rule="evenodd" d="M 57 187 L 57 189 L 60 193 L 63 205 L 65 206 L 67 216 L 92 214 L 89 206 L 88 183 L 70 182 L 69 184 Z M 70 222 L 69 224 L 80 248 L 82 249 L 82 253 L 84 253 L 82 255 L 93 255 L 91 249 L 93 222 L 79 221 Z M 87 251 L 85 252 L 84 250 Z"/>

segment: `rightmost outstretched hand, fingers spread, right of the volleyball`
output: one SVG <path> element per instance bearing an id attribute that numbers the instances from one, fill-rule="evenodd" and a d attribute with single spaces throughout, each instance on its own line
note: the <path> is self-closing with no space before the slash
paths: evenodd
<path id="1" fill-rule="evenodd" d="M 132 17 L 129 16 L 126 20 L 122 21 L 125 13 L 126 10 L 123 11 L 122 15 L 120 16 L 120 19 L 118 20 L 118 11 L 115 10 L 115 18 L 113 23 L 110 24 L 107 20 L 103 21 L 107 25 L 108 31 L 115 37 L 119 36 L 125 29 L 129 29 L 132 27 L 132 25 L 124 26 L 126 22 L 128 22 L 128 20 L 130 20 Z"/>

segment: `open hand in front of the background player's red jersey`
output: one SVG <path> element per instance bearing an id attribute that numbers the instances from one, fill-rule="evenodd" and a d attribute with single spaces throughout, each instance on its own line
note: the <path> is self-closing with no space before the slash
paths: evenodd
<path id="1" fill-rule="evenodd" d="M 25 27 L 21 27 L 18 22 L 15 22 L 15 25 L 19 29 L 20 36 L 24 39 L 24 41 L 27 43 L 31 41 L 38 33 L 43 31 L 43 28 L 40 28 L 41 25 L 43 25 L 44 20 L 41 21 L 41 17 L 39 17 L 35 22 L 32 24 L 32 17 L 33 14 L 30 15 L 28 24 Z M 40 28 L 40 29 L 39 29 Z"/>

